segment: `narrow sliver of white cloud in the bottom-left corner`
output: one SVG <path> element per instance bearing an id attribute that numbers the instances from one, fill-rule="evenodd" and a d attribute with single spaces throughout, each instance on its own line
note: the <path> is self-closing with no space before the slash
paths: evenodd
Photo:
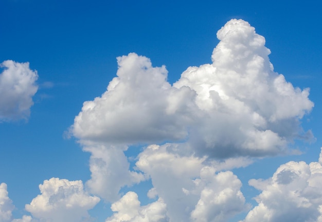
<path id="1" fill-rule="evenodd" d="M 12 216 L 12 200 L 8 197 L 7 185 L 0 184 L 0 222 L 9 222 Z"/>

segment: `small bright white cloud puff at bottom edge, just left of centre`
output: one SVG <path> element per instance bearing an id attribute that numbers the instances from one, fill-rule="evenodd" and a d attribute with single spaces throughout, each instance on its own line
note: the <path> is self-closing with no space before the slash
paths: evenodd
<path id="1" fill-rule="evenodd" d="M 166 204 L 161 198 L 146 206 L 140 206 L 135 192 L 128 192 L 112 204 L 115 213 L 105 222 L 166 222 Z"/>

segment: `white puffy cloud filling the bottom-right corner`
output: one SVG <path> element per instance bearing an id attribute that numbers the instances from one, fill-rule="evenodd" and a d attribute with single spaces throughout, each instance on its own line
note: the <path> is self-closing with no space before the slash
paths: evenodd
<path id="1" fill-rule="evenodd" d="M 243 222 L 322 221 L 322 166 L 313 162 L 281 165 L 267 180 L 252 179 L 249 185 L 261 190 L 258 206 Z"/>

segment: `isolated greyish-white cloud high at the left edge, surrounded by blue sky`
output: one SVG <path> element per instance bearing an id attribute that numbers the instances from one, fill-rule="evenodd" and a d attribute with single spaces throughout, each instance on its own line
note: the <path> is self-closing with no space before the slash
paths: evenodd
<path id="1" fill-rule="evenodd" d="M 6 60 L 0 64 L 0 122 L 27 119 L 32 96 L 37 92 L 37 71 L 29 68 L 29 63 Z"/>

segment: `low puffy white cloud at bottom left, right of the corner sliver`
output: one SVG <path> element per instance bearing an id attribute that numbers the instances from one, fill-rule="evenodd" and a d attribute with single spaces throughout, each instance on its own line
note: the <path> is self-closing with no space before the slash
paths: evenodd
<path id="1" fill-rule="evenodd" d="M 39 189 L 41 194 L 25 208 L 34 218 L 44 222 L 84 221 L 90 217 L 87 210 L 100 200 L 84 192 L 81 180 L 51 178 L 39 185 Z"/>

